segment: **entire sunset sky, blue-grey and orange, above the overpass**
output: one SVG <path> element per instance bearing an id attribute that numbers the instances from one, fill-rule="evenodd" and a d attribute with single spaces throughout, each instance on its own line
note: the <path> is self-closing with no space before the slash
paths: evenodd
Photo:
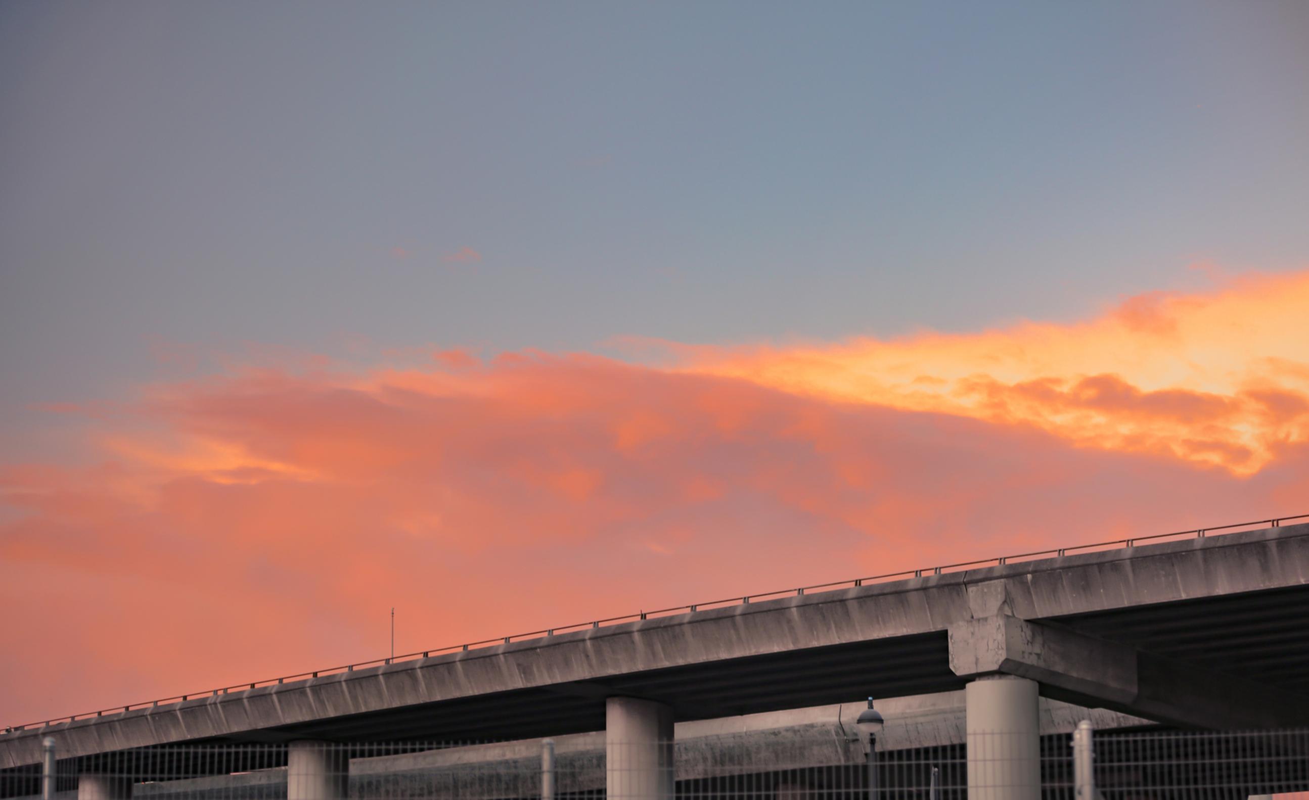
<path id="1" fill-rule="evenodd" d="M 1306 76 L 1299 1 L 0 4 L 0 724 L 1309 513 Z"/>

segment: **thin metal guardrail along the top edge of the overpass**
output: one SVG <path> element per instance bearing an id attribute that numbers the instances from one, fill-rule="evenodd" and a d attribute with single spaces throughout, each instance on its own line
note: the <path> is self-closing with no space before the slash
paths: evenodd
<path id="1" fill-rule="evenodd" d="M 1049 550 L 1035 550 L 1035 551 L 1031 551 L 1031 553 L 1020 553 L 1017 555 L 1001 555 L 1001 556 L 996 556 L 996 558 L 984 558 L 984 559 L 977 559 L 977 560 L 971 560 L 971 562 L 958 562 L 958 563 L 954 563 L 954 564 L 941 564 L 939 567 L 929 567 L 929 568 L 925 568 L 925 570 L 903 570 L 901 572 L 888 572 L 885 575 L 873 575 L 873 576 L 869 576 L 869 577 L 855 577 L 855 579 L 851 579 L 851 580 L 838 580 L 838 581 L 831 581 L 831 583 L 826 583 L 826 584 L 816 584 L 816 585 L 812 585 L 812 587 L 797 587 L 795 589 L 779 589 L 776 592 L 763 592 L 763 593 L 759 593 L 759 594 L 746 594 L 745 597 L 728 597 L 725 600 L 711 600 L 708 602 L 696 602 L 696 604 L 691 604 L 691 605 L 673 606 L 673 608 L 668 608 L 668 609 L 658 609 L 658 610 L 654 610 L 654 611 L 637 611 L 636 614 L 623 614 L 620 617 L 607 617 L 605 619 L 592 619 L 590 622 L 577 622 L 577 623 L 573 623 L 573 625 L 563 625 L 563 626 L 559 626 L 559 627 L 543 628 L 543 630 L 539 630 L 539 631 L 529 631 L 526 634 L 512 634 L 509 636 L 496 636 L 495 639 L 482 639 L 480 642 L 467 642 L 467 643 L 463 643 L 463 644 L 450 644 L 450 645 L 446 645 L 446 647 L 437 647 L 437 648 L 431 648 L 431 649 L 424 649 L 424 651 L 415 651 L 412 653 L 404 653 L 402 656 L 394 656 L 394 657 L 389 657 L 389 659 L 373 659 L 370 661 L 360 661 L 357 664 L 346 664 L 343 666 L 329 666 L 326 669 L 315 669 L 315 670 L 312 670 L 312 672 L 301 672 L 301 673 L 296 673 L 296 674 L 291 674 L 291 676 L 281 676 L 279 678 L 267 678 L 267 680 L 263 680 L 263 681 L 250 681 L 250 682 L 242 682 L 242 683 L 233 683 L 230 686 L 221 686 L 219 689 L 208 689 L 206 691 L 195 691 L 195 693 L 190 693 L 190 694 L 177 694 L 177 695 L 166 697 L 166 698 L 160 698 L 157 700 L 145 700 L 143 703 L 130 703 L 127 706 L 114 706 L 113 708 L 102 708 L 99 711 L 86 711 L 84 714 L 73 714 L 73 715 L 68 715 L 68 716 L 56 716 L 54 719 L 43 720 L 43 721 L 39 721 L 39 723 L 27 723 L 27 724 L 24 724 L 24 725 L 9 725 L 9 727 L 7 727 L 4 729 L 4 732 L 5 733 L 12 733 L 12 732 L 16 732 L 16 731 L 26 731 L 27 728 L 46 728 L 48 725 L 55 725 L 55 724 L 59 724 L 59 723 L 72 723 L 72 721 L 76 721 L 79 719 L 88 719 L 88 718 L 92 718 L 92 716 L 105 716 L 106 714 L 126 714 L 126 712 L 132 711 L 132 710 L 153 708 L 153 707 L 157 707 L 157 706 L 166 706 L 166 704 L 171 704 L 171 703 L 183 703 L 186 700 L 195 699 L 195 698 L 202 698 L 202 697 L 217 697 L 220 694 L 228 694 L 229 691 L 245 691 L 247 689 L 257 689 L 259 686 L 274 686 L 274 685 L 278 685 L 278 683 L 285 683 L 287 681 L 305 681 L 305 680 L 309 680 L 309 678 L 317 678 L 319 676 L 339 674 L 339 673 L 343 673 L 343 672 L 355 672 L 356 669 L 360 669 L 360 668 L 385 666 L 387 664 L 394 664 L 394 663 L 398 663 L 398 661 L 410 661 L 410 660 L 414 660 L 414 659 L 428 659 L 432 655 L 462 652 L 462 651 L 469 651 L 469 649 L 480 648 L 480 647 L 491 647 L 491 645 L 496 645 L 496 644 L 509 644 L 511 642 L 524 642 L 524 640 L 529 640 L 529 639 L 541 639 L 543 636 L 554 636 L 554 635 L 560 634 L 560 632 L 577 631 L 577 630 L 585 630 L 585 628 L 598 628 L 598 627 L 609 626 L 609 625 L 622 625 L 624 622 L 639 622 L 641 619 L 649 619 L 651 617 L 672 617 L 672 615 L 675 615 L 675 614 L 694 614 L 698 610 L 703 610 L 703 609 L 708 609 L 708 608 L 724 608 L 724 606 L 729 606 L 729 605 L 747 605 L 747 604 L 750 604 L 751 601 L 755 601 L 755 600 L 779 598 L 779 597 L 788 597 L 788 596 L 802 596 L 806 592 L 816 592 L 816 591 L 818 591 L 818 592 L 829 591 L 830 592 L 830 591 L 835 591 L 835 589 L 840 589 L 840 588 L 861 587 L 861 585 L 865 585 L 865 584 L 869 584 L 869 583 L 888 583 L 888 581 L 893 581 L 893 580 L 907 580 L 907 579 L 911 579 L 911 577 L 922 577 L 924 573 L 942 575 L 945 572 L 958 571 L 958 570 L 965 568 L 965 567 L 978 567 L 978 568 L 983 567 L 983 566 L 997 567 L 997 566 L 1004 566 L 1007 563 L 1011 563 L 1011 562 L 1018 560 L 1018 559 L 1039 560 L 1041 556 L 1051 556 L 1051 555 L 1054 558 L 1063 558 L 1064 555 L 1068 555 L 1069 553 L 1075 553 L 1075 551 L 1086 551 L 1086 550 L 1094 550 L 1094 549 L 1110 549 L 1110 547 L 1117 547 L 1119 545 L 1122 545 L 1124 547 L 1135 547 L 1139 542 L 1151 542 L 1151 541 L 1158 541 L 1158 539 L 1166 539 L 1166 538 L 1177 538 L 1177 537 L 1203 538 L 1204 536 L 1207 536 L 1208 533 L 1212 533 L 1215 530 L 1232 530 L 1234 528 L 1254 528 L 1257 525 L 1264 525 L 1264 526 L 1268 526 L 1268 528 L 1278 528 L 1278 526 L 1282 525 L 1282 522 L 1287 522 L 1289 520 L 1306 520 L 1306 518 L 1309 518 L 1309 513 L 1306 513 L 1306 515 L 1296 515 L 1296 516 L 1292 516 L 1292 517 L 1278 517 L 1278 518 L 1274 518 L 1274 520 L 1255 520 L 1253 522 L 1234 522 L 1232 525 L 1215 525 L 1212 528 L 1194 528 L 1194 529 L 1190 529 L 1190 530 L 1177 530 L 1177 532 L 1173 532 L 1173 533 L 1156 533 L 1156 534 L 1152 534 L 1152 536 L 1139 536 L 1139 537 L 1132 537 L 1132 538 L 1126 538 L 1126 539 L 1114 539 L 1114 541 L 1109 541 L 1109 542 L 1096 542 L 1093 545 L 1076 545 L 1073 547 L 1051 547 Z"/>

